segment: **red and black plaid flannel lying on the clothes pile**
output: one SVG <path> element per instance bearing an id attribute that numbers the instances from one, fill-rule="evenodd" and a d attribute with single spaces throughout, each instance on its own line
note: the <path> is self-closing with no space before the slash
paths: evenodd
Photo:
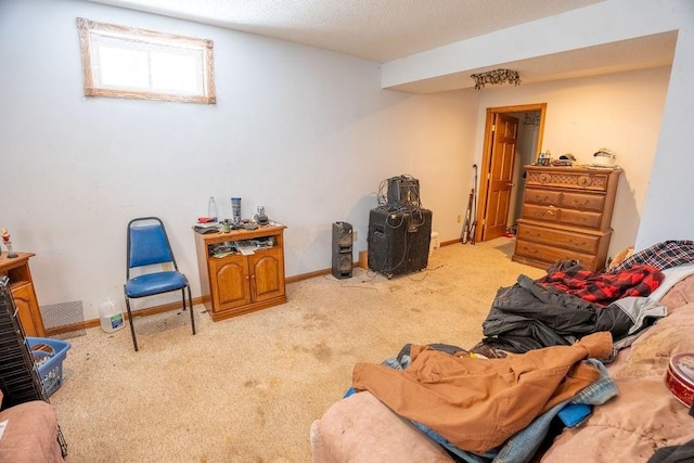
<path id="1" fill-rule="evenodd" d="M 595 273 L 573 267 L 548 273 L 536 282 L 583 300 L 607 306 L 622 297 L 650 295 L 664 276 L 660 270 L 651 266 L 634 265 L 618 273 Z"/>

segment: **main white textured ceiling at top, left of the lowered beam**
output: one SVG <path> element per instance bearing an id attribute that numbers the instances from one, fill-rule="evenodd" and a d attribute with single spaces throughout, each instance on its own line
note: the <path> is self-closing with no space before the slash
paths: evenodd
<path id="1" fill-rule="evenodd" d="M 88 0 L 385 63 L 603 0 Z"/>

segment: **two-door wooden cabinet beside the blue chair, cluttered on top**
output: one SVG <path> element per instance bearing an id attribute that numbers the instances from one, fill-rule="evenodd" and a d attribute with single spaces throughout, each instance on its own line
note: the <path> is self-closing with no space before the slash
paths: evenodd
<path id="1" fill-rule="evenodd" d="M 219 244 L 258 241 L 271 246 L 254 254 L 215 257 Z M 203 304 L 214 321 L 286 303 L 284 283 L 284 227 L 195 233 Z"/>

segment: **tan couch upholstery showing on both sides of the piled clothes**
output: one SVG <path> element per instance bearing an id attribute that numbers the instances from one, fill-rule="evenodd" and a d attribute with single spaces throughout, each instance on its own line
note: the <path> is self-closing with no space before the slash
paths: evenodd
<path id="1" fill-rule="evenodd" d="M 667 307 L 667 317 L 620 350 L 607 368 L 618 395 L 594 407 L 580 425 L 555 434 L 535 460 L 645 462 L 658 449 L 694 439 L 694 416 L 665 383 L 670 357 L 694 352 L 694 275 L 678 280 L 658 300 Z M 310 440 L 317 463 L 453 461 L 369 391 L 332 404 L 312 423 Z"/>

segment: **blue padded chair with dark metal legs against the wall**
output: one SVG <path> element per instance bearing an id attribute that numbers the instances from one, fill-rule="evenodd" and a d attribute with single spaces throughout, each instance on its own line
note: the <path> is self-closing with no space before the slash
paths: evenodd
<path id="1" fill-rule="evenodd" d="M 195 334 L 195 317 L 193 313 L 191 287 L 188 284 L 185 275 L 178 271 L 178 266 L 171 252 L 171 245 L 169 244 L 169 239 L 166 235 L 166 230 L 160 219 L 156 217 L 141 217 L 130 220 L 128 223 L 127 262 L 127 281 L 124 285 L 124 292 L 134 350 L 138 351 L 138 340 L 134 335 L 134 325 L 132 324 L 130 299 L 180 291 L 183 310 L 187 310 L 185 290 L 188 288 L 188 307 L 191 312 L 193 334 Z M 172 266 L 174 270 L 160 270 L 160 266 L 167 263 Z M 142 269 L 146 266 L 155 266 L 156 270 Z M 141 268 L 142 274 L 130 278 L 130 270 L 134 268 Z"/>

